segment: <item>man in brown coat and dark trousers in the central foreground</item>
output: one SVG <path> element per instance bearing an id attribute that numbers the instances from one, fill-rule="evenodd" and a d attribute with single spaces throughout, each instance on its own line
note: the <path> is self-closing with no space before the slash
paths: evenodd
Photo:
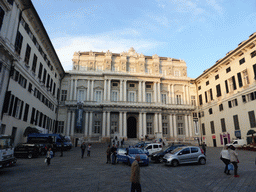
<path id="1" fill-rule="evenodd" d="M 136 155 L 135 161 L 132 163 L 131 166 L 131 192 L 137 192 L 141 191 L 141 185 L 140 185 L 140 166 L 139 166 L 140 156 Z"/>

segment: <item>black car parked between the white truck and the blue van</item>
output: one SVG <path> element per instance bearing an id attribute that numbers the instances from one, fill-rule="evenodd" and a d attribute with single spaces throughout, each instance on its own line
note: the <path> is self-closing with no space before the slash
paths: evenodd
<path id="1" fill-rule="evenodd" d="M 40 147 L 37 144 L 18 144 L 14 148 L 15 157 L 27 157 L 31 159 L 32 157 L 38 157 L 40 155 Z"/>

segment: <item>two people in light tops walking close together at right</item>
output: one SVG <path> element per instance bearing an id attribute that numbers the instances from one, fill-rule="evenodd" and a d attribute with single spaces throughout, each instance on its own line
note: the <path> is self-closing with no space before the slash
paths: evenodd
<path id="1" fill-rule="evenodd" d="M 230 163 L 232 163 L 234 166 L 234 177 L 239 177 L 239 175 L 237 174 L 237 169 L 238 169 L 237 164 L 239 163 L 239 160 L 238 160 L 238 154 L 235 151 L 235 149 L 236 148 L 233 145 L 225 146 L 220 153 L 221 155 L 220 159 L 225 164 L 224 173 L 226 173 L 227 175 L 231 175 L 230 170 L 232 170 L 232 165 L 230 165 Z"/>

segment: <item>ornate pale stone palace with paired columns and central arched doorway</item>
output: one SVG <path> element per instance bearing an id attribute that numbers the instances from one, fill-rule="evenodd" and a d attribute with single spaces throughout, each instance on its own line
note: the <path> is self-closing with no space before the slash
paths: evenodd
<path id="1" fill-rule="evenodd" d="M 186 63 L 128 52 L 76 52 L 61 85 L 59 125 L 72 138 L 200 137 Z M 78 126 L 79 125 L 79 126 Z"/>

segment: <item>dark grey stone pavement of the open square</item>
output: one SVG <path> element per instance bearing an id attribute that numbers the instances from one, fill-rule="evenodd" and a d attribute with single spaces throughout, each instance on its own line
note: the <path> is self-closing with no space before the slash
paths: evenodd
<path id="1" fill-rule="evenodd" d="M 17 165 L 0 169 L 0 191 L 130 191 L 130 167 L 106 164 L 106 144 L 92 145 L 91 157 L 81 159 L 80 148 L 64 157 L 18 159 Z M 238 151 L 239 178 L 223 173 L 221 148 L 207 148 L 206 165 L 169 167 L 150 163 L 141 167 L 142 191 L 256 191 L 256 152 Z M 233 172 L 231 172 L 233 173 Z"/>

